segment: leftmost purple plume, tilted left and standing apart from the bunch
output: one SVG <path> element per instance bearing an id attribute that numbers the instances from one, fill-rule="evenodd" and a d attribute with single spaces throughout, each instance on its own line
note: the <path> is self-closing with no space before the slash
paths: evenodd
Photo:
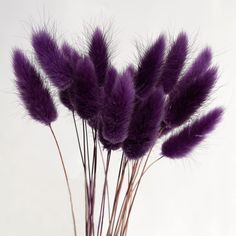
<path id="1" fill-rule="evenodd" d="M 57 118 L 56 107 L 40 74 L 20 50 L 13 52 L 16 85 L 29 115 L 36 121 L 50 125 Z"/>

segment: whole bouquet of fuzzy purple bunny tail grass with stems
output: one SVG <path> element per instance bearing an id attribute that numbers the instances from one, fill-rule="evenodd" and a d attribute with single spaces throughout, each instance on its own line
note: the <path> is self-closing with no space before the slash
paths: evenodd
<path id="1" fill-rule="evenodd" d="M 74 236 L 77 227 L 86 236 L 127 235 L 146 172 L 162 158 L 188 157 L 222 117 L 221 107 L 200 112 L 218 78 L 211 49 L 204 48 L 188 65 L 187 34 L 181 32 L 169 44 L 160 35 L 140 55 L 137 65 L 130 63 L 118 71 L 111 62 L 107 35 L 100 28 L 93 30 L 83 54 L 67 42 L 58 44 L 45 28 L 33 31 L 31 42 L 35 62 L 20 49 L 13 52 L 15 82 L 29 116 L 50 129 L 55 140 Z M 56 95 L 51 87 L 57 89 Z M 73 118 L 84 174 L 85 211 L 79 212 L 84 222 L 76 220 L 75 199 L 53 127 L 59 112 L 55 96 Z M 154 153 L 157 142 L 161 149 Z M 114 152 L 120 152 L 120 164 L 112 173 L 116 184 L 110 186 Z M 104 175 L 98 184 L 101 166 Z"/>

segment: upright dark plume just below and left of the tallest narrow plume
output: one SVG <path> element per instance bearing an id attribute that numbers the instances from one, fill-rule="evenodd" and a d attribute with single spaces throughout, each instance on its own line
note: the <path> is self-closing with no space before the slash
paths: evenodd
<path id="1" fill-rule="evenodd" d="M 77 65 L 77 77 L 72 87 L 72 103 L 82 119 L 91 119 L 101 108 L 101 90 L 92 61 L 85 57 Z"/>

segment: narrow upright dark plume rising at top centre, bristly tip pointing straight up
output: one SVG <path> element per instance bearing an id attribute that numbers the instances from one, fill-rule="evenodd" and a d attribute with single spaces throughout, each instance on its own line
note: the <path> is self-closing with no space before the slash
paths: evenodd
<path id="1" fill-rule="evenodd" d="M 96 28 L 92 34 L 89 56 L 95 66 L 98 84 L 102 86 L 109 66 L 109 52 L 106 36 L 99 28 Z"/>

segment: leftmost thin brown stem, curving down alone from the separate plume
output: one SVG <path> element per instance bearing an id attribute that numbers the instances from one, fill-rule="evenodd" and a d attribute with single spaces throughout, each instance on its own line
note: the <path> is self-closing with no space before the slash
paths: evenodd
<path id="1" fill-rule="evenodd" d="M 70 188 L 70 183 L 69 183 L 69 179 L 68 179 L 65 163 L 64 163 L 64 160 L 63 160 L 63 157 L 62 157 L 62 153 L 61 153 L 61 149 L 60 149 L 59 143 L 57 141 L 56 135 L 55 135 L 55 133 L 53 131 L 53 128 L 52 128 L 51 124 L 49 125 L 49 128 L 51 130 L 51 133 L 53 135 L 54 141 L 56 143 L 57 150 L 58 150 L 58 153 L 59 153 L 59 156 L 60 156 L 60 160 L 61 160 L 61 164 L 62 164 L 62 167 L 63 167 L 63 172 L 64 172 L 64 175 L 65 175 L 66 185 L 67 185 L 67 189 L 68 189 L 68 193 L 69 193 L 69 198 L 70 198 L 70 207 L 71 207 L 71 215 L 72 215 L 73 227 L 74 227 L 74 236 L 77 236 L 76 223 L 75 223 L 75 213 L 74 213 L 74 206 L 73 206 L 73 200 L 72 200 L 72 193 L 71 193 L 71 188 Z"/>

